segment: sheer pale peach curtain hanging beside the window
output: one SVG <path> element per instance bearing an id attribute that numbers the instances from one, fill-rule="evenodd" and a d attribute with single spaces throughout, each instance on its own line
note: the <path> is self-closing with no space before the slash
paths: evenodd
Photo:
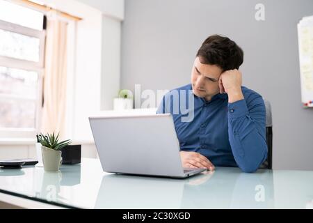
<path id="1" fill-rule="evenodd" d="M 65 134 L 67 81 L 67 23 L 47 20 L 45 50 L 44 104 L 42 109 L 42 133 Z"/>

